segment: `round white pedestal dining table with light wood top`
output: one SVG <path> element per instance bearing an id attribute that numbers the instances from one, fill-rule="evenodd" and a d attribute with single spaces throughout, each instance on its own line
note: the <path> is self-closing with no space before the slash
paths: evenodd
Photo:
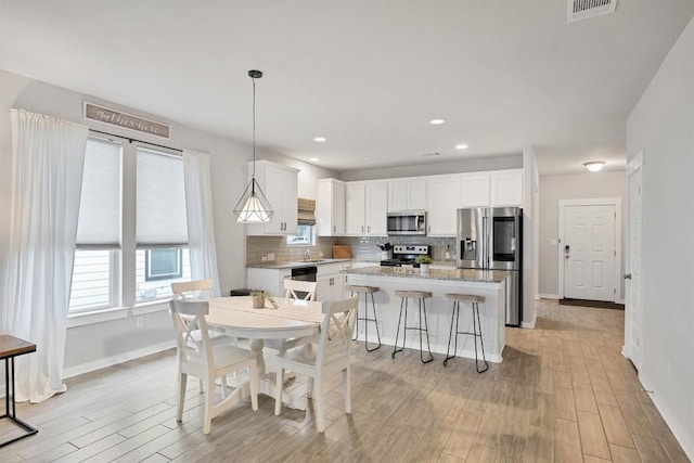
<path id="1" fill-rule="evenodd" d="M 265 339 L 317 335 L 323 320 L 321 303 L 275 297 L 277 308 L 266 300 L 265 308 L 255 309 L 250 296 L 214 297 L 207 300 L 207 324 L 223 330 L 230 336 L 250 340 L 250 350 L 256 352 L 258 359 L 259 391 L 277 398 L 275 372 L 266 372 Z M 245 397 L 246 393 L 244 389 L 240 397 Z M 286 390 L 282 401 L 298 410 L 308 407 L 305 396 L 297 397 Z"/>

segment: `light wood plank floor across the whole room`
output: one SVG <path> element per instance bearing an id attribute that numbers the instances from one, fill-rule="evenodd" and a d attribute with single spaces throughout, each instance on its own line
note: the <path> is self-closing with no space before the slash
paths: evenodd
<path id="1" fill-rule="evenodd" d="M 67 393 L 18 416 L 39 434 L 0 461 L 123 462 L 689 462 L 631 363 L 624 311 L 539 301 L 535 330 L 506 329 L 501 364 L 422 364 L 406 350 L 355 349 L 352 413 L 339 377 L 326 394 L 325 434 L 309 413 L 260 396 L 202 433 L 204 396 L 189 381 L 175 421 L 176 359 L 163 352 L 68 380 Z M 301 387 L 296 381 L 294 387 Z M 3 425 L 4 426 L 4 425 Z M 7 428 L 0 426 L 0 438 Z"/>

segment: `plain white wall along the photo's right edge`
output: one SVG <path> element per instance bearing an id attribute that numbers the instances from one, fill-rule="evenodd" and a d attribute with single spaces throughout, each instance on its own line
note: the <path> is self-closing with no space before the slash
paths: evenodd
<path id="1" fill-rule="evenodd" d="M 694 20 L 627 120 L 643 151 L 643 364 L 639 377 L 694 460 Z"/>

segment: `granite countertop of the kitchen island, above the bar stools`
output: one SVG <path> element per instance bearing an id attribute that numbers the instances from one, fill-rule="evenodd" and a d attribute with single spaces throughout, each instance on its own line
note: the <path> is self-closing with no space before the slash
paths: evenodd
<path id="1" fill-rule="evenodd" d="M 343 273 L 371 276 L 395 276 L 414 278 L 423 280 L 450 280 L 467 281 L 475 283 L 501 283 L 506 279 L 507 273 L 503 270 L 471 270 L 471 269 L 429 269 L 426 273 L 421 273 L 420 269 L 407 267 L 361 267 L 357 269 L 343 270 Z"/>

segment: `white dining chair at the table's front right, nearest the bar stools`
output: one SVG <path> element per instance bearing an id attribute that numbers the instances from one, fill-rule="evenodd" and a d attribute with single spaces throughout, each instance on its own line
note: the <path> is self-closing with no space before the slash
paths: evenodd
<path id="1" fill-rule="evenodd" d="M 308 394 L 313 398 L 316 410 L 316 427 L 319 433 L 325 430 L 323 417 L 323 386 L 335 374 L 342 372 L 343 396 L 345 412 L 351 413 L 351 394 L 349 387 L 349 364 L 351 350 L 351 334 L 357 318 L 356 297 L 343 300 L 326 300 L 323 303 L 324 313 L 321 334 L 318 344 L 298 346 L 281 352 L 277 357 L 277 397 L 274 414 L 282 411 L 283 375 L 285 370 L 308 376 Z"/>

